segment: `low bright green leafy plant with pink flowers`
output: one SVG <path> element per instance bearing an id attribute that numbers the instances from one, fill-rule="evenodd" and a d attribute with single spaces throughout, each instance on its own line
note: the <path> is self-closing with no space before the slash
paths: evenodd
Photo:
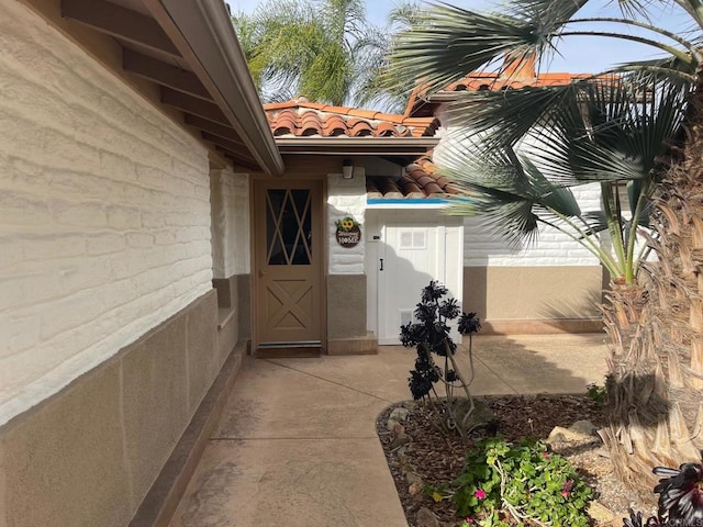
<path id="1" fill-rule="evenodd" d="M 453 487 L 457 515 L 467 525 L 589 525 L 592 490 L 540 440 L 513 445 L 500 437 L 480 439 Z"/>

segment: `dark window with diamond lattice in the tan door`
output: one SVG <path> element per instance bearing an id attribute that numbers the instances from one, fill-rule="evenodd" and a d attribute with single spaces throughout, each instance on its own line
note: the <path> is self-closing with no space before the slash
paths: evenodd
<path id="1" fill-rule="evenodd" d="M 309 266 L 312 260 L 310 190 L 266 192 L 266 247 L 269 266 Z"/>

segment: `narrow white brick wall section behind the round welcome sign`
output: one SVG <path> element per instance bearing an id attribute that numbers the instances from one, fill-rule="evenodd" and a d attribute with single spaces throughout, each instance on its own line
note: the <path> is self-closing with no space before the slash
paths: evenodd
<path id="1" fill-rule="evenodd" d="M 364 170 L 355 168 L 353 179 L 341 173 L 327 176 L 327 244 L 330 274 L 364 274 L 366 178 Z M 337 244 L 336 222 L 352 216 L 361 224 L 361 242 L 356 247 Z"/>

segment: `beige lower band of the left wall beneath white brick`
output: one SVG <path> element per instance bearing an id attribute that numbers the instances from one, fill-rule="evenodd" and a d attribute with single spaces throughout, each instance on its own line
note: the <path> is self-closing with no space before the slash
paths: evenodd
<path id="1" fill-rule="evenodd" d="M 123 527 L 225 359 L 214 291 L 0 428 L 0 526 Z"/>

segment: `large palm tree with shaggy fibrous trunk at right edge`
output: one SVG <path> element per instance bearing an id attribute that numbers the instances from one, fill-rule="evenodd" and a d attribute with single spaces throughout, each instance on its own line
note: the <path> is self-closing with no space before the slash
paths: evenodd
<path id="1" fill-rule="evenodd" d="M 595 77 L 567 87 L 466 93 L 449 109 L 453 119 L 479 130 L 480 145 L 495 147 L 492 157 L 498 159 L 483 156 L 483 161 L 512 167 L 506 178 L 513 184 L 507 187 L 510 195 L 501 194 L 504 189 L 495 184 L 481 188 L 484 178 L 468 179 L 469 191 L 481 197 L 477 206 L 482 199 L 486 210 L 498 211 L 494 217 L 512 217 L 506 227 L 531 232 L 528 222 L 538 222 L 534 211 L 546 209 L 560 222 L 583 220 L 581 234 L 591 235 L 602 221 L 579 218 L 569 214 L 576 209 L 563 210 L 560 203 L 551 210 L 545 206 L 558 203 L 557 198 L 568 195 L 569 187 L 583 179 L 602 183 L 602 217 L 605 223 L 617 222 L 609 225 L 615 240 L 618 236 L 624 240 L 627 233 L 632 240 L 636 225 L 649 216 L 647 243 L 657 258 L 641 262 L 639 273 L 636 266 L 625 270 L 623 283 L 613 280 L 606 294 L 604 322 L 613 354 L 607 381 L 610 424 L 601 430 L 621 479 L 649 492 L 652 467 L 699 460 L 703 447 L 703 1 L 621 0 L 618 16 L 579 18 L 587 3 L 595 2 L 516 0 L 501 13 L 435 7 L 397 42 L 393 72 L 404 82 L 422 79 L 425 93 L 431 94 L 467 72 L 502 63 L 505 56 L 524 61 L 536 55 L 548 60 L 572 36 L 627 40 L 666 54 L 662 59 L 613 68 L 617 80 Z M 688 15 L 691 30 L 684 36 L 649 22 L 661 5 L 673 5 Z M 606 97 L 600 103 L 599 92 Z M 665 109 L 676 113 L 667 125 Z M 677 139 L 683 131 L 681 146 Z M 521 141 L 531 134 L 544 146 L 517 155 Z M 611 138 L 605 139 L 609 134 Z M 666 157 L 662 142 L 669 146 Z M 459 147 L 451 152 L 454 173 L 470 168 L 465 167 Z M 486 154 L 486 148 L 479 152 Z M 613 181 L 632 189 L 634 221 L 625 229 L 615 194 L 609 193 Z M 515 182 L 523 184 L 515 187 Z M 500 209 L 510 200 L 515 203 L 512 215 Z M 625 254 L 632 250 L 627 243 L 625 247 Z M 609 268 L 617 278 L 614 269 Z"/>

